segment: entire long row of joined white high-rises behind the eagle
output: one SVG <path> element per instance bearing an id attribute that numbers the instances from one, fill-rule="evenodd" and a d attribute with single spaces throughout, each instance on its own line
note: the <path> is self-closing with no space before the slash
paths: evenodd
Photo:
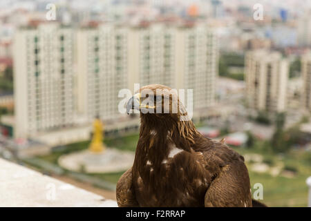
<path id="1" fill-rule="evenodd" d="M 17 31 L 14 52 L 15 137 L 117 120 L 135 83 L 194 89 L 195 111 L 214 104 L 218 39 L 205 25 L 41 24 Z"/>

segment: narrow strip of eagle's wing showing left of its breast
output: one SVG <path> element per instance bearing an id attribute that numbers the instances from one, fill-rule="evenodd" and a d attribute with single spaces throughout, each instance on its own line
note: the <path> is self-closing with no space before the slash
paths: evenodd
<path id="1" fill-rule="evenodd" d="M 117 205 L 119 207 L 139 206 L 132 187 L 132 169 L 129 169 L 117 182 Z"/>

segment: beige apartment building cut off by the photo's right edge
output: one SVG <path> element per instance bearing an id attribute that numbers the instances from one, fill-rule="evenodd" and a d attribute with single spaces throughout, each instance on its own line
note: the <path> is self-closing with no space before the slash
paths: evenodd
<path id="1" fill-rule="evenodd" d="M 311 111 L 311 55 L 304 55 L 301 59 L 301 73 L 303 77 L 303 107 Z"/>

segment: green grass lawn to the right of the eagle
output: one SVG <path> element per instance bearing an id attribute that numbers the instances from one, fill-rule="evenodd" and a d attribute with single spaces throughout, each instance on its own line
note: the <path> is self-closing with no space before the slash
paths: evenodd
<path id="1" fill-rule="evenodd" d="M 311 175 L 311 162 L 304 158 L 305 151 L 290 151 L 282 157 L 267 153 L 261 149 L 234 148 L 241 155 L 246 153 L 258 153 L 263 155 L 264 159 L 272 162 L 290 165 L 297 170 L 294 177 L 272 176 L 269 173 L 256 173 L 249 169 L 249 178 L 251 186 L 256 183 L 263 184 L 263 201 L 267 206 L 307 206 L 308 204 L 308 186 L 305 180 Z M 280 159 L 281 158 L 281 159 Z M 252 193 L 256 189 L 252 188 Z"/>

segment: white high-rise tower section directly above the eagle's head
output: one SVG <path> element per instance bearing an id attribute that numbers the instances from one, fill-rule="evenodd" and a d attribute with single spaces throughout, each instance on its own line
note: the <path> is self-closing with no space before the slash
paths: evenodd
<path id="1" fill-rule="evenodd" d="M 135 83 L 174 87 L 176 29 L 163 24 L 132 27 L 129 41 L 129 75 Z"/>

